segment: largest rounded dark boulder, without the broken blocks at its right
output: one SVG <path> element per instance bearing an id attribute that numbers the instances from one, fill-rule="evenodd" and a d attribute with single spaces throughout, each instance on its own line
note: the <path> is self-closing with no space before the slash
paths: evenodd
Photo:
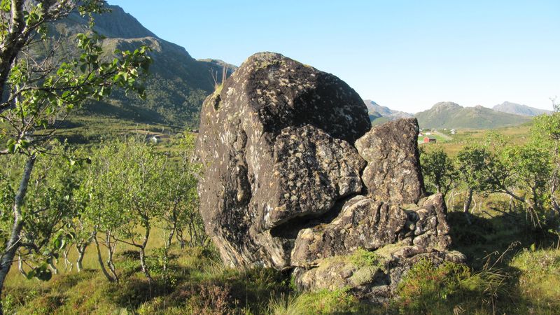
<path id="1" fill-rule="evenodd" d="M 362 191 L 352 144 L 369 129 L 339 78 L 279 54 L 249 57 L 204 102 L 197 143 L 200 210 L 225 262 L 288 267 L 290 220 Z"/>

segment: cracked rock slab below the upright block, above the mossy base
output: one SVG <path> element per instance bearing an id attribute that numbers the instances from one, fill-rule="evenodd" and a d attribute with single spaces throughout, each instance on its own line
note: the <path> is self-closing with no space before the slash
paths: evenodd
<path id="1" fill-rule="evenodd" d="M 430 196 L 422 207 L 353 197 L 332 222 L 300 230 L 292 265 L 311 267 L 323 258 L 348 255 L 358 248 L 374 251 L 398 242 L 420 246 L 425 251 L 447 249 L 451 239 L 445 212 L 442 195 Z"/>

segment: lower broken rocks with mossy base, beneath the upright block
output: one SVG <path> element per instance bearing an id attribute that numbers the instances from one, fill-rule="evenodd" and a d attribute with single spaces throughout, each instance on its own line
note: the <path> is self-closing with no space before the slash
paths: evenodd
<path id="1" fill-rule="evenodd" d="M 402 276 L 421 259 L 435 265 L 462 262 L 461 253 L 447 251 L 451 238 L 445 212 L 441 194 L 421 206 L 353 197 L 331 223 L 300 230 L 292 253 L 297 286 L 350 287 L 380 302 L 394 294 Z M 367 260 L 356 255 L 364 252 L 371 254 Z"/>

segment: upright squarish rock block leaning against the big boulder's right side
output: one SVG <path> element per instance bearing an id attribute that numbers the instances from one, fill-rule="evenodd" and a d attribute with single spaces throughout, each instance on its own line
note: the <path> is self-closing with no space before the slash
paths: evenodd
<path id="1" fill-rule="evenodd" d="M 415 118 L 400 119 L 373 127 L 356 141 L 367 161 L 362 180 L 368 196 L 395 204 L 418 202 L 425 193 L 418 133 Z"/>

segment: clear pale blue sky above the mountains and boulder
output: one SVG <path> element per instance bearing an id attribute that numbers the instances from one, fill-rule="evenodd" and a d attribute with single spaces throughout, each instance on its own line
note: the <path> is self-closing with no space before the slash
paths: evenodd
<path id="1" fill-rule="evenodd" d="M 195 58 L 280 52 L 364 99 L 415 113 L 436 102 L 552 109 L 559 0 L 109 0 Z"/>

